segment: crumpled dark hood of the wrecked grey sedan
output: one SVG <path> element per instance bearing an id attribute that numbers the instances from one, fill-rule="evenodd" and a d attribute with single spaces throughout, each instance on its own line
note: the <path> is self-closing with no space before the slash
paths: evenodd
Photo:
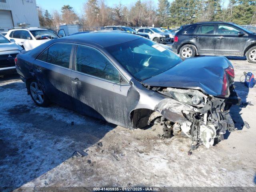
<path id="1" fill-rule="evenodd" d="M 225 57 L 191 58 L 142 83 L 149 86 L 198 89 L 205 94 L 226 97 L 227 95 L 222 95 L 222 85 L 224 69 L 229 66 L 233 68 Z"/>

